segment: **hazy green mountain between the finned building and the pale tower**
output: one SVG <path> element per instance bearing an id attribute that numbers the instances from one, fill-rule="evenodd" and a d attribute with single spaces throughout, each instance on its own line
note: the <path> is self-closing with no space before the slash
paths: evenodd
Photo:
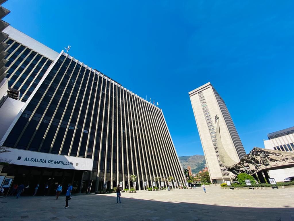
<path id="1" fill-rule="evenodd" d="M 191 166 L 192 173 L 198 173 L 206 164 L 203 155 L 179 156 L 179 159 L 182 167 Z"/>

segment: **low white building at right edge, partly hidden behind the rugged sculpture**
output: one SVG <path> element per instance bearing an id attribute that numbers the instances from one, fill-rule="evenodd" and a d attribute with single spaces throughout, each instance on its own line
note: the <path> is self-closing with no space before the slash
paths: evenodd
<path id="1" fill-rule="evenodd" d="M 294 153 L 294 127 L 268 133 L 268 140 L 263 141 L 265 149 Z M 270 177 L 276 182 L 284 181 L 286 177 L 294 177 L 294 168 L 270 170 Z"/>

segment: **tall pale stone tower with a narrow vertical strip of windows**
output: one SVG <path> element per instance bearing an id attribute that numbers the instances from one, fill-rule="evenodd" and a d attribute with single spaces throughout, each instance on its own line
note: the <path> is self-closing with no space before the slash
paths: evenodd
<path id="1" fill-rule="evenodd" d="M 232 180 L 226 166 L 246 153 L 224 100 L 209 82 L 189 95 L 211 182 Z"/>

